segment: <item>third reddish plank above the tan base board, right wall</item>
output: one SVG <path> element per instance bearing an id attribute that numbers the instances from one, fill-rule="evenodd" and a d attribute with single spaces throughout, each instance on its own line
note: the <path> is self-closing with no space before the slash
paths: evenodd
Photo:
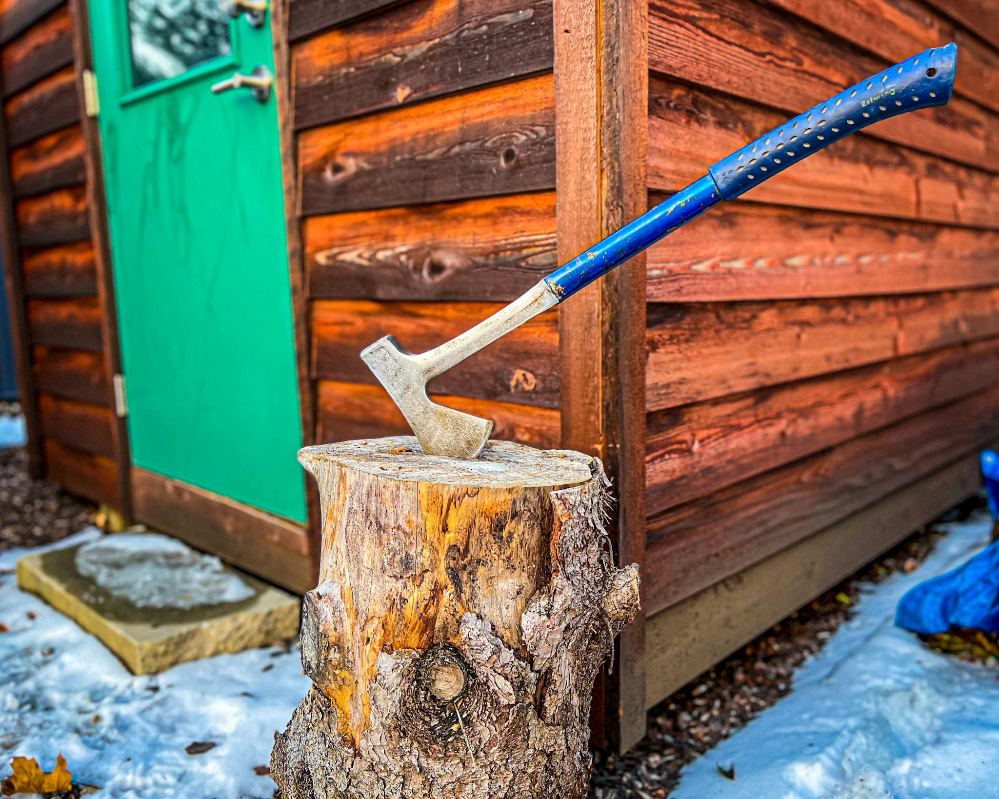
<path id="1" fill-rule="evenodd" d="M 999 335 L 999 289 L 648 309 L 649 410 Z"/>

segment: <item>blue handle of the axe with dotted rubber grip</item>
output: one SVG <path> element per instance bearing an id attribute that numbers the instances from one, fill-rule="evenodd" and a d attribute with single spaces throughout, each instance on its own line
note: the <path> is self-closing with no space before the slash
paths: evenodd
<path id="1" fill-rule="evenodd" d="M 925 50 L 788 120 L 727 156 L 685 189 L 642 214 L 544 283 L 560 303 L 722 200 L 753 186 L 875 122 L 950 100 L 957 45 Z M 761 76 L 765 79 L 765 76 Z"/>

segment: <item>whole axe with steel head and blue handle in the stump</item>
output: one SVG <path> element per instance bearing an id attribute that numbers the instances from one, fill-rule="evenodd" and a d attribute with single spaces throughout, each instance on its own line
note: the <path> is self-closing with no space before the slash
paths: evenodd
<path id="1" fill-rule="evenodd" d="M 950 100 L 957 47 L 926 50 L 808 109 L 718 161 L 706 175 L 559 267 L 522 297 L 434 350 L 407 353 L 391 336 L 361 353 L 403 411 L 424 451 L 471 459 L 486 445 L 493 422 L 427 396 L 427 383 L 500 336 L 685 225 L 722 200 L 734 200 L 792 164 L 875 122 Z"/>

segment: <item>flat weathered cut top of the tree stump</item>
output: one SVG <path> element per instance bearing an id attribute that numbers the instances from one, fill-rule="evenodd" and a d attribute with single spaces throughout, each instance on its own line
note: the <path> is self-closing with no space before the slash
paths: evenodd
<path id="1" fill-rule="evenodd" d="M 475 487 L 578 485 L 592 476 L 592 458 L 571 449 L 491 440 L 475 460 L 462 460 L 425 454 L 415 435 L 306 446 L 299 460 L 306 467 L 325 460 L 398 480 Z"/>

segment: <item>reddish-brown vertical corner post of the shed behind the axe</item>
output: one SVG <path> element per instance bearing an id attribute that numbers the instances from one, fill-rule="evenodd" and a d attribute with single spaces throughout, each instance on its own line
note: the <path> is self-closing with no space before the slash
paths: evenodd
<path id="1" fill-rule="evenodd" d="M 554 0 L 558 261 L 647 208 L 647 3 Z M 644 566 L 645 260 L 559 307 L 562 445 L 600 457 L 617 499 L 619 563 Z M 644 618 L 621 633 L 604 682 L 605 741 L 645 731 Z M 593 720 L 596 727 L 597 720 Z"/>

